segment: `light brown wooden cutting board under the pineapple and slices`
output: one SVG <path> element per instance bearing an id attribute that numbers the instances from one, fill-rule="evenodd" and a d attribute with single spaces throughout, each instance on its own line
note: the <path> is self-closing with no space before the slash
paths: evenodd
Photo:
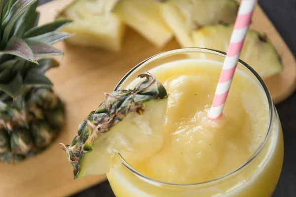
<path id="1" fill-rule="evenodd" d="M 55 0 L 38 7 L 40 24 L 52 21 L 57 11 L 70 1 Z M 252 28 L 266 33 L 282 57 L 284 71 L 266 80 L 278 103 L 295 89 L 295 58 L 259 7 L 254 13 Z M 48 76 L 55 84 L 56 93 L 66 102 L 66 126 L 41 155 L 16 165 L 0 164 L 0 197 L 65 197 L 106 180 L 105 175 L 74 180 L 71 164 L 59 142 L 72 141 L 79 123 L 104 99 L 103 93 L 112 91 L 129 69 L 154 54 L 179 48 L 172 40 L 164 48 L 156 49 L 132 30 L 127 31 L 123 49 L 118 53 L 66 46 L 63 42 L 56 46 L 65 56 L 57 57 L 61 66 L 50 70 Z"/>

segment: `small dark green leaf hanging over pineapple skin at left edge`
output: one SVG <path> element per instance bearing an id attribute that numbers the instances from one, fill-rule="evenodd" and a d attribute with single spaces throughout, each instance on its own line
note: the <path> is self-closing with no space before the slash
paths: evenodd
<path id="1" fill-rule="evenodd" d="M 1 83 L 0 89 L 5 92 L 7 95 L 12 97 L 12 99 L 16 99 L 19 91 L 22 87 L 22 76 L 17 73 L 13 80 L 9 83 Z"/>

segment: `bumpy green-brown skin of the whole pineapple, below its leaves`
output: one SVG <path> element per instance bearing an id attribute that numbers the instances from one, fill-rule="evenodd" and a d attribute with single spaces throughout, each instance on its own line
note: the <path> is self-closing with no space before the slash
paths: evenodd
<path id="1" fill-rule="evenodd" d="M 19 163 L 43 152 L 64 125 L 64 103 L 51 88 L 31 88 L 22 97 L 25 98 L 22 110 L 10 108 L 14 116 L 9 117 L 9 122 L 2 119 L 0 124 L 2 163 Z M 21 118 L 16 121 L 16 117 Z"/>

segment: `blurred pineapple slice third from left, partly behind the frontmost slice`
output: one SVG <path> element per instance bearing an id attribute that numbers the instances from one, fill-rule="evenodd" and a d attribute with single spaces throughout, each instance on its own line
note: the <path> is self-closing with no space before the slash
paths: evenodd
<path id="1" fill-rule="evenodd" d="M 205 25 L 234 23 L 239 4 L 235 0 L 167 0 L 162 16 L 182 47 L 193 47 L 192 31 Z"/>

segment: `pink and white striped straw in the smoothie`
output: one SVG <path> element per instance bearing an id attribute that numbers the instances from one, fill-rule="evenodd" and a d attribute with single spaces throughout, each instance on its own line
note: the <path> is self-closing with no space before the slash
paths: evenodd
<path id="1" fill-rule="evenodd" d="M 222 67 L 219 83 L 216 89 L 215 97 L 210 110 L 209 118 L 218 119 L 222 116 L 223 108 L 235 68 L 243 47 L 243 43 L 248 32 L 251 17 L 257 0 L 242 0 L 234 24 L 234 30 L 231 34 L 226 58 Z"/>

